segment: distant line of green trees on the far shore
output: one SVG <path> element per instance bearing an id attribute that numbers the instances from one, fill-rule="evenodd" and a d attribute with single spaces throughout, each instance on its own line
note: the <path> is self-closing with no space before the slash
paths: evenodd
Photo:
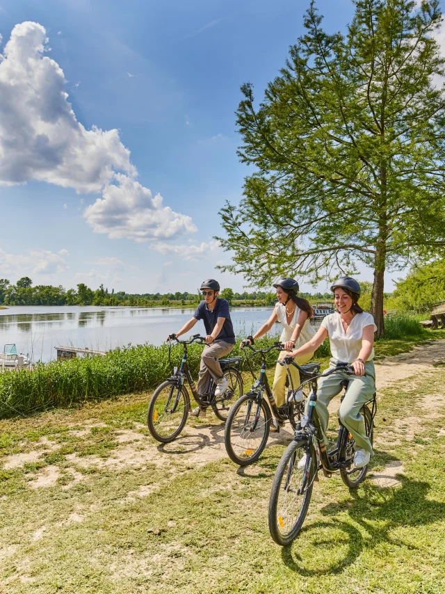
<path id="1" fill-rule="evenodd" d="M 311 301 L 332 300 L 330 293 L 302 293 Z M 254 305 L 273 305 L 275 292 L 244 291 L 237 293 L 229 287 L 221 291 L 220 296 L 229 303 L 252 303 Z M 202 299 L 200 293 L 176 291 L 175 293 L 143 293 L 131 294 L 125 291 L 108 291 L 103 284 L 99 289 L 90 289 L 83 282 L 76 289 L 65 290 L 61 285 L 36 284 L 28 276 L 17 280 L 15 284 L 6 278 L 0 278 L 0 305 L 130 305 L 133 307 L 149 307 L 152 305 L 193 305 Z"/>

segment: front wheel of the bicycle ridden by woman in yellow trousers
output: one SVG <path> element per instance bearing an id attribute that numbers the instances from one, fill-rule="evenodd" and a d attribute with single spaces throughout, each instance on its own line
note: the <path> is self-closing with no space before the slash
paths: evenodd
<path id="1" fill-rule="evenodd" d="M 260 405 L 261 408 L 259 422 L 257 424 L 257 428 L 255 429 L 255 431 L 261 431 L 261 428 L 263 428 L 264 433 L 262 436 L 259 437 L 258 447 L 252 449 L 252 447 L 249 447 L 249 444 L 240 443 L 238 445 L 238 442 L 235 441 L 234 432 L 238 430 L 238 426 L 234 428 L 234 424 L 236 423 L 236 417 L 238 415 L 238 412 L 241 411 L 241 407 L 243 407 L 244 404 L 246 404 L 246 411 L 244 417 L 243 412 L 241 412 L 240 414 L 240 424 L 244 421 L 243 426 L 241 426 L 241 436 L 245 435 L 245 441 L 249 441 L 248 435 L 249 433 L 253 432 L 250 432 L 250 428 L 245 427 L 245 419 L 249 411 L 249 403 L 252 403 L 250 406 L 249 421 L 251 417 L 254 419 L 258 407 L 257 399 L 258 395 L 256 392 L 248 392 L 247 394 L 244 394 L 244 396 L 241 396 L 241 398 L 239 398 L 236 401 L 236 403 L 234 403 L 234 406 L 232 406 L 232 408 L 230 409 L 229 416 L 227 417 L 227 421 L 225 424 L 225 449 L 230 460 L 232 460 L 232 462 L 238 464 L 239 466 L 248 466 L 250 464 L 253 464 L 256 460 L 258 460 L 259 456 L 261 456 L 262 451 L 266 447 L 266 443 L 269 437 L 270 419 L 272 415 L 270 414 L 270 408 L 266 403 L 265 399 L 262 399 Z M 264 421 L 261 420 L 261 412 Z"/>

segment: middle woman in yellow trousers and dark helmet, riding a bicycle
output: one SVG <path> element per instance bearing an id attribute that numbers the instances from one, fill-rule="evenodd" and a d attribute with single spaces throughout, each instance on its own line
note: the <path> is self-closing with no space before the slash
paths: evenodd
<path id="1" fill-rule="evenodd" d="M 280 353 L 280 359 L 282 359 L 285 355 L 290 355 L 290 351 L 293 348 L 301 346 L 312 339 L 315 335 L 315 330 L 309 323 L 312 317 L 312 307 L 309 301 L 297 296 L 299 289 L 298 282 L 293 278 L 281 278 L 273 286 L 277 289 L 278 299 L 273 314 L 253 336 L 248 337 L 247 341 L 253 343 L 254 340 L 273 328 L 276 321 L 279 321 L 283 326 L 280 342 L 286 348 L 286 351 L 281 351 Z M 302 365 L 303 363 L 307 363 L 310 358 L 312 358 L 312 353 L 298 357 L 297 362 L 299 365 Z M 300 385 L 298 369 L 293 366 L 290 369 L 293 385 L 298 387 Z M 286 377 L 286 368 L 277 363 L 272 393 L 278 408 L 286 404 Z M 270 426 L 270 431 L 277 431 L 277 426 Z"/>

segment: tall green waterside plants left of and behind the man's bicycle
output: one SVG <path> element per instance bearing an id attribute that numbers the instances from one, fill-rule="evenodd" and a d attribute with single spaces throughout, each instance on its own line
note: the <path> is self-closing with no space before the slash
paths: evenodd
<path id="1" fill-rule="evenodd" d="M 277 337 L 264 337 L 257 344 L 264 348 L 275 340 Z M 188 367 L 194 377 L 200 368 L 201 352 L 198 344 L 188 347 Z M 182 353 L 180 346 L 172 348 L 172 365 L 179 366 Z M 241 354 L 238 344 L 232 354 Z M 276 358 L 276 351 L 272 351 L 268 364 L 273 366 Z M 257 355 L 254 366 L 258 369 L 259 364 Z M 118 348 L 104 357 L 38 363 L 32 370 L 0 374 L 0 417 L 140 392 L 161 383 L 171 371 L 165 344 Z"/>

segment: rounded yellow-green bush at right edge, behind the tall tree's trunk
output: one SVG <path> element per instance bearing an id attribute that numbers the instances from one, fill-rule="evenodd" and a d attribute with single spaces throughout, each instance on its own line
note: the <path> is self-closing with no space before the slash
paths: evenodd
<path id="1" fill-rule="evenodd" d="M 430 312 L 432 306 L 445 301 L 445 259 L 426 266 L 413 266 L 407 278 L 396 283 L 394 300 L 398 310 Z"/>

